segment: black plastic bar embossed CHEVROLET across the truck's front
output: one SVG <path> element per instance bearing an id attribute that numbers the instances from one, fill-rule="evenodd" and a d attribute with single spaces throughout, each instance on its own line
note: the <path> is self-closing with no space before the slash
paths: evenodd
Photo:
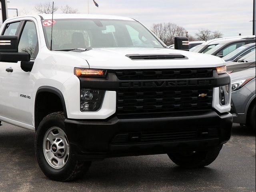
<path id="1" fill-rule="evenodd" d="M 130 88 L 166 88 L 179 87 L 186 88 L 187 86 L 198 87 L 218 87 L 230 84 L 230 76 L 228 74 L 218 75 L 216 70 L 211 78 L 194 78 L 194 79 L 161 79 L 161 80 L 119 80 L 114 73 L 114 70 L 108 70 L 106 78 L 83 78 L 79 77 L 80 87 L 99 90 L 120 90 Z"/>

